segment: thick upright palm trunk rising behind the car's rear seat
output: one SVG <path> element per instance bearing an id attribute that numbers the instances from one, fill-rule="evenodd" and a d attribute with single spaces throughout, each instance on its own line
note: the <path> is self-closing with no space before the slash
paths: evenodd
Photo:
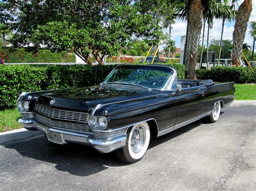
<path id="1" fill-rule="evenodd" d="M 188 62 L 187 79 L 197 79 L 196 77 L 196 63 L 198 56 L 198 48 L 200 41 L 200 34 L 202 29 L 203 6 L 201 0 L 192 0 L 190 5 L 190 14 L 188 17 L 190 23 L 190 56 Z"/>

